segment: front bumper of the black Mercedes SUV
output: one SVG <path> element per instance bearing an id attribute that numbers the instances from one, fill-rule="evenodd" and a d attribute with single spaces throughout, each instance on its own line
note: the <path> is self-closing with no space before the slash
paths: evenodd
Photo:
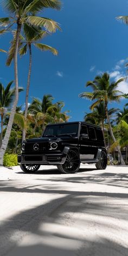
<path id="1" fill-rule="evenodd" d="M 19 155 L 17 157 L 18 163 L 21 164 L 40 164 L 40 165 L 57 165 L 64 164 L 66 160 L 66 153 L 58 154 L 43 154 L 43 155 Z"/>

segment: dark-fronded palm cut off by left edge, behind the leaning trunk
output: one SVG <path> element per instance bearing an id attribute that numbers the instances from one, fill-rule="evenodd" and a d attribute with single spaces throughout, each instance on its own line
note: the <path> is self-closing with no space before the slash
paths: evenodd
<path id="1" fill-rule="evenodd" d="M 12 101 L 15 97 L 15 88 L 10 89 L 13 81 L 9 82 L 6 88 L 0 83 L 0 116 L 1 116 L 1 137 L 0 137 L 0 147 L 3 140 L 3 121 L 5 113 L 7 113 Z M 23 88 L 18 88 L 18 92 L 23 91 Z"/>

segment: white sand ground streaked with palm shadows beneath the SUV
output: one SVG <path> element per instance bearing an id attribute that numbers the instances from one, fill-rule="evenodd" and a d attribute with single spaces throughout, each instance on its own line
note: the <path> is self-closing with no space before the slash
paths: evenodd
<path id="1" fill-rule="evenodd" d="M 0 176 L 1 256 L 128 255 L 128 167 Z"/>

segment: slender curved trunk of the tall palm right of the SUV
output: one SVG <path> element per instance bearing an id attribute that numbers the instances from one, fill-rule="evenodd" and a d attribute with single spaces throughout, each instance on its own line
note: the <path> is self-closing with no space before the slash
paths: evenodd
<path id="1" fill-rule="evenodd" d="M 112 126 L 111 126 L 111 122 L 110 122 L 110 117 L 109 117 L 109 115 L 108 115 L 107 103 L 105 104 L 105 111 L 106 111 L 106 116 L 107 116 L 107 121 L 108 121 L 108 125 L 109 125 L 109 130 L 110 130 L 111 137 L 112 137 L 112 139 L 113 139 L 113 142 L 116 142 L 116 138 L 114 137 L 113 131 L 112 131 Z M 121 151 L 120 151 L 119 145 L 118 145 L 116 148 L 117 148 L 118 153 L 119 153 L 119 157 L 120 157 L 120 162 L 121 162 L 121 164 L 124 164 L 124 165 L 125 165 L 123 156 L 121 155 Z"/>

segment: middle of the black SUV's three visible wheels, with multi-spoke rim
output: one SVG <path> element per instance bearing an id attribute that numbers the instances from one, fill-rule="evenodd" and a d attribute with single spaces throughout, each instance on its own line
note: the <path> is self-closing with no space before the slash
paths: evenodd
<path id="1" fill-rule="evenodd" d="M 75 150 L 69 150 L 64 164 L 57 165 L 62 174 L 74 174 L 80 168 L 80 156 Z"/>

